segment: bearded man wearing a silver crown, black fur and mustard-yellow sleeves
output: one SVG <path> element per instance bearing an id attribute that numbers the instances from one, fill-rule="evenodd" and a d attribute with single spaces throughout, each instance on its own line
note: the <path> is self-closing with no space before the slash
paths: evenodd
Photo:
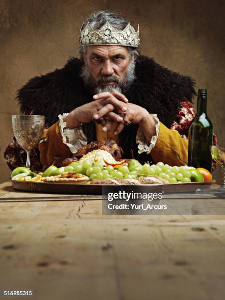
<path id="1" fill-rule="evenodd" d="M 124 17 L 95 12 L 80 30 L 80 59 L 71 58 L 64 68 L 34 77 L 19 90 L 22 113 L 45 115 L 48 127 L 40 156 L 38 149 L 31 152 L 31 169 L 108 139 L 119 144 L 125 158 L 141 163 L 187 163 L 194 81 L 139 55 L 138 36 Z M 15 139 L 5 158 L 11 169 L 25 165 L 25 151 Z"/>

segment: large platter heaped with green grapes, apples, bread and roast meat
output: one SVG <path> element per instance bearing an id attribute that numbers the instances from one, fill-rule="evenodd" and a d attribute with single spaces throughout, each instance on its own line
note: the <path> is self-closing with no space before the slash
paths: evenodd
<path id="1" fill-rule="evenodd" d="M 101 194 L 102 186 L 107 185 L 148 186 L 149 192 L 177 193 L 213 184 L 212 175 L 205 169 L 169 166 L 163 162 L 142 165 L 136 159 L 121 159 L 115 144 L 100 149 L 93 145 L 78 150 L 76 156 L 65 159 L 61 166 L 52 165 L 43 173 L 16 168 L 11 175 L 12 187 L 30 192 L 88 195 Z"/>

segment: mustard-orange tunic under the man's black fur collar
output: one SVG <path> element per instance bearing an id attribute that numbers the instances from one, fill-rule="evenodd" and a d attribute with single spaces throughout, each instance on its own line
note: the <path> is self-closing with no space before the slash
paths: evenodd
<path id="1" fill-rule="evenodd" d="M 50 166 L 55 157 L 59 157 L 59 161 L 71 156 L 71 151 L 62 141 L 62 136 L 59 131 L 59 121 L 50 126 L 44 133 L 43 137 L 48 138 L 47 142 L 42 142 L 39 145 L 40 161 L 43 166 Z M 105 133 L 101 130 L 101 125 L 96 125 L 96 136 L 98 141 L 107 140 L 109 138 L 119 142 L 119 137 L 114 135 L 113 130 Z M 162 161 L 170 166 L 182 166 L 187 164 L 188 160 L 188 141 L 182 138 L 176 130 L 167 128 L 160 123 L 159 136 L 150 155 L 155 163 Z"/>

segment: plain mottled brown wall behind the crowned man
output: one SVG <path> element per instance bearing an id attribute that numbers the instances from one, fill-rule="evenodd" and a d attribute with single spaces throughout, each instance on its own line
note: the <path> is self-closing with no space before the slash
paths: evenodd
<path id="1" fill-rule="evenodd" d="M 225 145 L 224 0 L 0 0 L 0 181 L 10 174 L 3 151 L 19 113 L 16 91 L 76 55 L 84 18 L 100 9 L 139 23 L 142 54 L 208 89 L 208 115 Z"/>

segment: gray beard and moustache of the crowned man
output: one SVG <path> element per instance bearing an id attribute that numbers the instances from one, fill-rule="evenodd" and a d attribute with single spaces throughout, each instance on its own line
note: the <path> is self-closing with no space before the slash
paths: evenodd
<path id="1" fill-rule="evenodd" d="M 80 77 L 83 79 L 84 86 L 88 88 L 93 95 L 103 93 L 103 92 L 113 92 L 117 91 L 119 93 L 127 93 L 131 84 L 133 83 L 135 77 L 135 64 L 133 61 L 129 62 L 126 76 L 124 81 L 121 81 L 117 75 L 100 75 L 97 80 L 95 80 L 89 73 L 86 64 L 83 65 L 80 73 Z M 113 85 L 100 85 L 100 82 L 116 82 Z"/>

